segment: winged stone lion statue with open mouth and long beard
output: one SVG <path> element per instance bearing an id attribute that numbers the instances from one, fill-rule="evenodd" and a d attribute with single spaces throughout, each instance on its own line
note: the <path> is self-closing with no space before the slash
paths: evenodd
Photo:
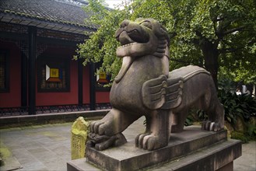
<path id="1" fill-rule="evenodd" d="M 90 124 L 88 145 L 97 150 L 122 145 L 121 134 L 139 117 L 146 117 L 146 132 L 135 145 L 155 150 L 168 145 L 172 132 L 181 132 L 191 106 L 205 110 L 209 120 L 203 130 L 224 127 L 223 105 L 209 72 L 189 65 L 169 72 L 169 37 L 155 19 L 124 20 L 116 32 L 121 43 L 117 57 L 121 70 L 110 90 L 112 110 Z"/>

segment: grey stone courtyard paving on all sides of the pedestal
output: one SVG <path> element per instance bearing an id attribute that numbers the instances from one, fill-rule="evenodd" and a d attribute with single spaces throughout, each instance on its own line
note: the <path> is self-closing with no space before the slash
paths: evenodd
<path id="1" fill-rule="evenodd" d="M 140 118 L 124 135 L 134 141 L 137 134 L 145 130 Z M 23 169 L 18 171 L 64 171 L 71 160 L 72 123 L 46 124 L 40 127 L 13 127 L 0 129 L 0 139 L 19 161 Z M 234 161 L 234 171 L 256 170 L 256 143 L 251 141 L 242 147 L 242 156 Z"/>

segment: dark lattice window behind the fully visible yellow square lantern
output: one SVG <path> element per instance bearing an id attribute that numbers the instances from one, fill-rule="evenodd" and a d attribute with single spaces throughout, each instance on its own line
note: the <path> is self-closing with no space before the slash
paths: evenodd
<path id="1" fill-rule="evenodd" d="M 37 61 L 38 92 L 69 92 L 69 65 L 68 59 L 40 57 Z"/>

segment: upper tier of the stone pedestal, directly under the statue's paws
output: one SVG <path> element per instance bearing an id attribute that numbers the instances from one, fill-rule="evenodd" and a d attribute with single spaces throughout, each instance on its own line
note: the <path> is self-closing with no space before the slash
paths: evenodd
<path id="1" fill-rule="evenodd" d="M 191 126 L 185 127 L 185 130 L 179 134 L 172 134 L 167 147 L 153 152 L 135 148 L 134 140 L 128 140 L 128 143 L 119 148 L 110 148 L 102 152 L 98 152 L 94 148 L 86 148 L 86 156 L 87 162 L 101 169 L 136 170 L 170 162 L 202 148 L 209 148 L 218 142 L 225 141 L 226 131 L 202 131 L 198 126 Z M 79 162 L 80 164 L 86 163 L 84 159 L 83 162 L 81 161 L 82 159 Z M 68 162 L 68 165 L 71 167 L 75 165 L 75 162 L 78 161 Z M 75 166 L 80 166 L 80 164 L 76 163 Z"/>

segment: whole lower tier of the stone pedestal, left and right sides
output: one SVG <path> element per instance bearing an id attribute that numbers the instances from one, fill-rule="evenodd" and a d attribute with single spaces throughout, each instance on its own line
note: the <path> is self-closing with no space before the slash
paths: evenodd
<path id="1" fill-rule="evenodd" d="M 224 171 L 233 170 L 233 160 L 241 155 L 241 142 L 229 139 L 212 145 L 209 148 L 199 149 L 188 155 L 183 155 L 178 159 L 169 162 L 160 162 L 157 165 L 143 168 L 143 170 L 152 171 Z M 140 159 L 142 162 L 144 159 Z M 112 163 L 114 165 L 114 163 Z M 130 163 L 132 166 L 132 163 Z M 92 163 L 86 162 L 86 159 L 76 159 L 68 162 L 68 171 L 99 171 L 107 170 L 106 168 L 99 169 Z M 137 170 L 122 168 L 117 170 Z"/>

